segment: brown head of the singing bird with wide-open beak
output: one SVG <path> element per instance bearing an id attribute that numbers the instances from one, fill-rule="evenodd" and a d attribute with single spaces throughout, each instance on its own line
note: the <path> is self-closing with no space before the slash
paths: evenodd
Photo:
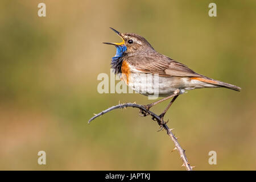
<path id="1" fill-rule="evenodd" d="M 111 44 L 117 48 L 117 52 L 123 51 L 125 53 L 142 53 L 154 51 L 154 48 L 144 39 L 142 36 L 133 34 L 133 33 L 120 33 L 114 28 L 111 28 L 121 39 L 121 43 L 109 43 L 105 42 L 104 44 Z"/>

